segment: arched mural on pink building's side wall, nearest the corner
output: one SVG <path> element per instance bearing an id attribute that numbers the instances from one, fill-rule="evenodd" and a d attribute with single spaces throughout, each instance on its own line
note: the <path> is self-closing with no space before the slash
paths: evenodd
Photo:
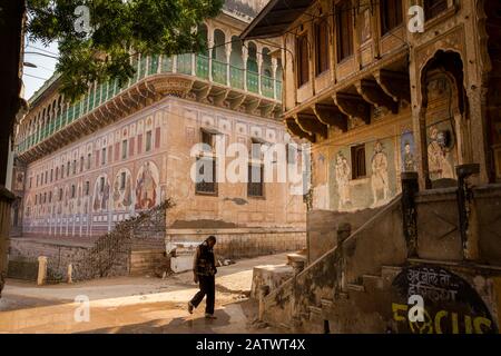
<path id="1" fill-rule="evenodd" d="M 149 209 L 160 200 L 158 168 L 153 161 L 146 161 L 137 174 L 136 209 Z"/>

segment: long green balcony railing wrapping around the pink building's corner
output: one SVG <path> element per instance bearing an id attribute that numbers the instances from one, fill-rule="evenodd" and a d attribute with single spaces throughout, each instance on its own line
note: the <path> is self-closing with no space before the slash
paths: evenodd
<path id="1" fill-rule="evenodd" d="M 204 55 L 179 55 L 174 57 L 150 56 L 134 62 L 136 73 L 121 87 L 118 80 L 108 81 L 92 87 L 89 92 L 65 111 L 57 115 L 42 129 L 36 130 L 17 145 L 17 152 L 23 152 L 53 134 L 70 125 L 80 117 L 92 111 L 100 105 L 134 86 L 141 79 L 158 73 L 181 73 L 194 76 L 203 80 L 213 81 L 234 89 L 246 90 L 252 93 L 278 100 L 282 99 L 282 82 L 274 78 L 259 76 L 256 71 L 245 70 L 227 62 L 210 59 Z M 229 68 L 228 68 L 229 67 Z M 210 70 L 212 68 L 212 70 Z M 228 80 L 229 73 L 229 80 Z M 261 79 L 259 79 L 261 77 Z M 261 90 L 259 90 L 261 82 Z"/>

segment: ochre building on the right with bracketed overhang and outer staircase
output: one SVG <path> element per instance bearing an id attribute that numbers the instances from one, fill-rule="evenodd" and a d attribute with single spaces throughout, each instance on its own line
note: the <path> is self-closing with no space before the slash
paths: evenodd
<path id="1" fill-rule="evenodd" d="M 313 145 L 308 267 L 266 297 L 269 320 L 440 333 L 452 313 L 448 332 L 499 330 L 499 267 L 483 264 L 501 265 L 500 11 L 498 1 L 305 0 L 291 9 L 276 0 L 244 31 L 282 38 L 284 123 Z M 469 185 L 490 187 L 492 198 Z M 488 216 L 479 220 L 480 210 Z M 439 283 L 442 271 L 464 279 Z M 433 280 L 420 279 L 429 273 Z M 418 278 L 412 286 L 405 274 Z M 432 289 L 453 297 L 430 298 Z M 392 310 L 395 294 L 401 310 L 420 293 L 438 327 L 413 328 Z M 475 318 L 484 319 L 474 328 Z"/>

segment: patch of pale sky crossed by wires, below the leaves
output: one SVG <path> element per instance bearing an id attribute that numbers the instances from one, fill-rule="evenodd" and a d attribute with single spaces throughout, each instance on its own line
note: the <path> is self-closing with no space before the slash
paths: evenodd
<path id="1" fill-rule="evenodd" d="M 37 52 L 31 53 L 31 52 Z M 56 42 L 45 47 L 41 42 L 31 42 L 26 39 L 24 43 L 24 69 L 22 81 L 24 83 L 24 99 L 31 96 L 41 87 L 43 82 L 49 79 L 56 68 L 58 57 L 58 44 Z M 50 56 L 50 57 L 47 57 Z M 29 65 L 35 65 L 37 68 L 31 68 Z"/>

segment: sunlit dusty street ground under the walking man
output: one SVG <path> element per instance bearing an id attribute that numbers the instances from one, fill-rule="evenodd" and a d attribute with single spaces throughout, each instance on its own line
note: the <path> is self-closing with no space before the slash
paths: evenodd
<path id="1" fill-rule="evenodd" d="M 237 260 L 218 268 L 216 320 L 204 317 L 205 299 L 193 315 L 187 303 L 198 290 L 190 271 L 156 277 L 104 278 L 76 284 L 36 286 L 8 280 L 0 299 L 0 333 L 281 333 L 257 328 L 257 303 L 248 299 L 253 267 L 278 265 L 286 254 Z M 77 296 L 89 303 L 89 320 Z"/>

